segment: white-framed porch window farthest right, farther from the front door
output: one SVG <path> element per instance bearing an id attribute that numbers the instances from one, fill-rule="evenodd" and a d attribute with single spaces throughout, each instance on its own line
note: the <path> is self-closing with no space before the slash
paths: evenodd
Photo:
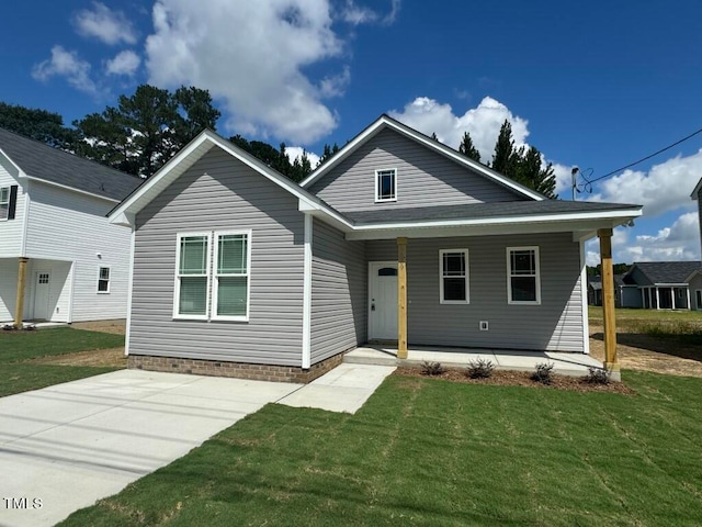
<path id="1" fill-rule="evenodd" d="M 541 304 L 539 247 L 507 248 L 507 296 L 510 304 Z"/>

